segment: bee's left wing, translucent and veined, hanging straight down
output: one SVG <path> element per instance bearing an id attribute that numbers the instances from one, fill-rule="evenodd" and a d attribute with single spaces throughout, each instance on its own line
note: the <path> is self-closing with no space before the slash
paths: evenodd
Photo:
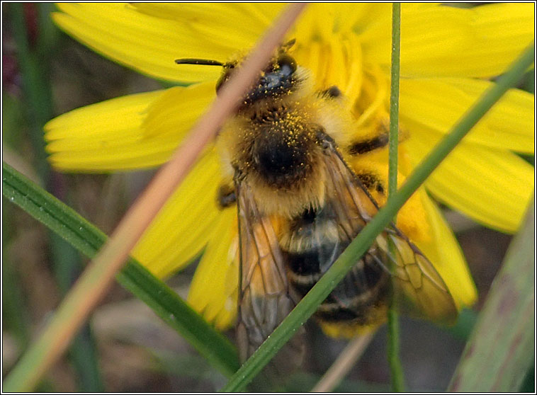
<path id="1" fill-rule="evenodd" d="M 261 215 L 247 184 L 237 183 L 236 190 L 240 238 L 237 340 L 244 361 L 286 318 L 295 301 L 271 220 Z M 278 361 L 300 363 L 302 342 L 295 339 L 278 354 Z"/>

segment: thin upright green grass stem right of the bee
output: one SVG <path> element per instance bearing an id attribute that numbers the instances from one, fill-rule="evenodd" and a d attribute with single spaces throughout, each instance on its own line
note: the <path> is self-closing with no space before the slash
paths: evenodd
<path id="1" fill-rule="evenodd" d="M 388 139 L 388 200 L 397 191 L 397 147 L 399 146 L 399 69 L 401 44 L 401 4 L 392 4 L 392 67 L 390 86 L 390 138 Z M 393 218 L 395 222 L 395 217 Z M 394 248 L 394 246 L 390 246 Z M 399 319 L 395 299 L 388 309 L 388 363 L 392 390 L 405 391 L 405 376 L 399 356 Z"/>

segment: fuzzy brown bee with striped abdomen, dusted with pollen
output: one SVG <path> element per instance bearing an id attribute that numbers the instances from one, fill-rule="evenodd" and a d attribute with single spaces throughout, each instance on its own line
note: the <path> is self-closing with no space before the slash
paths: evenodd
<path id="1" fill-rule="evenodd" d="M 254 353 L 331 267 L 379 209 L 385 188 L 349 159 L 385 147 L 385 130 L 354 140 L 354 118 L 336 86 L 316 91 L 288 42 L 220 131 L 217 146 L 230 173 L 220 207 L 237 205 L 242 360 Z M 216 90 L 239 64 L 178 59 L 222 67 Z M 456 304 L 434 266 L 395 225 L 387 227 L 320 304 L 327 330 L 351 332 L 385 321 L 392 295 L 410 310 L 450 321 Z M 434 302 L 431 302 L 434 301 Z M 355 331 L 356 330 L 356 331 Z"/>

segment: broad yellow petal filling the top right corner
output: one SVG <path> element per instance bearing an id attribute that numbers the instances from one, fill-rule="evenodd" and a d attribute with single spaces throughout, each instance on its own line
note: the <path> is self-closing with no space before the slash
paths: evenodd
<path id="1" fill-rule="evenodd" d="M 490 77 L 507 69 L 534 36 L 533 4 L 401 8 L 401 76 Z M 374 33 L 374 34 L 372 34 Z M 370 62 L 390 67 L 389 20 L 363 36 Z"/>

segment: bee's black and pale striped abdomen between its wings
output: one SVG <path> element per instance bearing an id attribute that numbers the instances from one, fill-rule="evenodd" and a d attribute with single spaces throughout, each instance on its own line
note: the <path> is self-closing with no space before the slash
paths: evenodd
<path id="1" fill-rule="evenodd" d="M 327 202 L 318 210 L 307 210 L 293 219 L 281 234 L 286 254 L 288 279 L 303 297 L 332 266 L 350 241 L 363 228 L 356 217 L 347 224 L 337 221 L 337 212 Z M 346 277 L 317 309 L 317 319 L 327 323 L 374 324 L 378 314 L 372 309 L 384 307 L 388 300 L 390 278 L 373 246 L 359 259 Z"/>

